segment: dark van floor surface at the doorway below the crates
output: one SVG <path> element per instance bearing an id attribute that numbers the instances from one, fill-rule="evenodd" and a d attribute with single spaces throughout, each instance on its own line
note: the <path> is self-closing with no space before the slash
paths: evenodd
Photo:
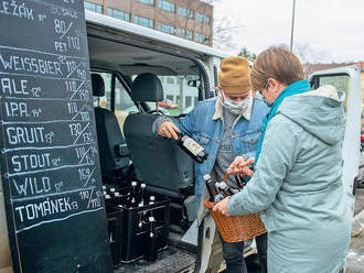
<path id="1" fill-rule="evenodd" d="M 156 262 L 139 260 L 129 264 L 120 264 L 114 273 L 179 273 L 191 272 L 195 263 L 194 255 L 169 247 L 158 253 Z"/>

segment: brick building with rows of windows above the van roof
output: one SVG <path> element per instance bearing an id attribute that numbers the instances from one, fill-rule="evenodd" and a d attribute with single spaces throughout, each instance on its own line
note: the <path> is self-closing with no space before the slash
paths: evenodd
<path id="1" fill-rule="evenodd" d="M 212 46 L 213 6 L 200 0 L 87 0 L 85 9 Z"/>

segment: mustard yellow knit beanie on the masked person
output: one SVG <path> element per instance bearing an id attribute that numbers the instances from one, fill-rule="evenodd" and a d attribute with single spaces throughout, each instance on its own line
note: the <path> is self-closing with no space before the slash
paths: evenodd
<path id="1" fill-rule="evenodd" d="M 249 62 L 244 57 L 227 57 L 220 64 L 218 84 L 226 94 L 244 94 L 251 89 Z"/>

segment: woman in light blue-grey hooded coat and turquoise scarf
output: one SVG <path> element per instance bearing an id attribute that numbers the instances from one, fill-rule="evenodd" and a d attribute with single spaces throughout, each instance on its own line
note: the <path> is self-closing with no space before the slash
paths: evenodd
<path id="1" fill-rule="evenodd" d="M 310 90 L 303 78 L 291 52 L 271 47 L 259 54 L 251 84 L 272 106 L 255 160 L 232 166 L 251 175 L 246 165 L 255 163 L 255 173 L 214 210 L 260 212 L 269 273 L 339 273 L 351 230 L 342 182 L 344 111 L 334 87 Z"/>

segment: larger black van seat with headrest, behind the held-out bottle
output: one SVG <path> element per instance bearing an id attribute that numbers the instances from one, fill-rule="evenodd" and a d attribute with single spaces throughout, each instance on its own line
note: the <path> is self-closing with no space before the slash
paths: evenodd
<path id="1" fill-rule="evenodd" d="M 162 101 L 160 79 L 150 73 L 140 74 L 131 86 L 131 99 L 137 102 Z M 152 132 L 158 114 L 138 112 L 129 114 L 124 123 L 124 133 L 133 163 L 137 178 L 147 184 L 149 192 L 170 197 L 182 197 L 183 189 L 193 185 L 193 160 L 174 140 Z"/>

